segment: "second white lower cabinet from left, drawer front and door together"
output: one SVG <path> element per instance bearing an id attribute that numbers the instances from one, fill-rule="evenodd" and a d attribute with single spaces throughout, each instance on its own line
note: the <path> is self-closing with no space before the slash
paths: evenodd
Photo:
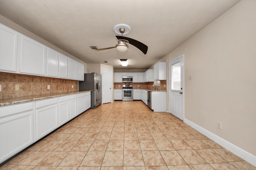
<path id="1" fill-rule="evenodd" d="M 59 126 L 58 98 L 36 102 L 36 140 Z"/>

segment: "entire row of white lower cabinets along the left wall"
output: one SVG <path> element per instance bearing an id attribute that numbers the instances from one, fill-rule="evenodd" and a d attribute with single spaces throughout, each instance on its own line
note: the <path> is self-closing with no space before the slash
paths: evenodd
<path id="1" fill-rule="evenodd" d="M 91 92 L 0 106 L 0 163 L 91 107 Z"/>

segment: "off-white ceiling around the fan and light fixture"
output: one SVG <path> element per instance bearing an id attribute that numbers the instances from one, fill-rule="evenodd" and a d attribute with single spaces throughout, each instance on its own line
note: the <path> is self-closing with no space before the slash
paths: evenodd
<path id="1" fill-rule="evenodd" d="M 148 68 L 240 0 L 0 0 L 0 14 L 85 63 Z M 133 45 L 113 47 L 114 25 L 131 27 L 125 35 L 148 45 L 144 55 Z"/>

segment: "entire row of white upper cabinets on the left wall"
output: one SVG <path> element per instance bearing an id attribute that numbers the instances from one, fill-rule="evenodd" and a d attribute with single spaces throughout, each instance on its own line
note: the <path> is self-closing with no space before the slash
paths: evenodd
<path id="1" fill-rule="evenodd" d="M 84 80 L 84 64 L 1 23 L 0 71 Z"/>

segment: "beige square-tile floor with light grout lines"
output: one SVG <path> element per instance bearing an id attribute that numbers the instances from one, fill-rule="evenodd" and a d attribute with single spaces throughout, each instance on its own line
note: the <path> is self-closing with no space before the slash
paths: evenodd
<path id="1" fill-rule="evenodd" d="M 89 109 L 0 170 L 256 170 L 166 112 L 143 102 Z"/>

